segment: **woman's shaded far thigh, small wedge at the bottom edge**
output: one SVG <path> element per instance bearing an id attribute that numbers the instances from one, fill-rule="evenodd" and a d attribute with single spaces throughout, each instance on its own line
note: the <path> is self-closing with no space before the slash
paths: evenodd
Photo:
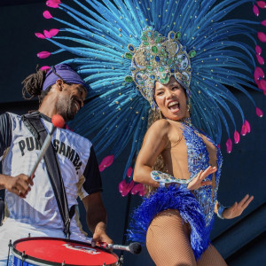
<path id="1" fill-rule="evenodd" d="M 201 255 L 197 266 L 226 266 L 222 255 L 217 251 L 215 246 L 209 245 L 207 250 Z"/>

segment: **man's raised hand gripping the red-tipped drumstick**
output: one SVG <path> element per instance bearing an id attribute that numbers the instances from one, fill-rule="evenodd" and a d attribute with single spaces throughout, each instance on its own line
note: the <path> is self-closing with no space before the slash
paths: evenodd
<path id="1" fill-rule="evenodd" d="M 31 190 L 30 185 L 33 185 L 32 179 L 24 174 L 4 176 L 4 188 L 9 192 L 17 194 L 20 198 L 26 198 L 27 193 Z"/>

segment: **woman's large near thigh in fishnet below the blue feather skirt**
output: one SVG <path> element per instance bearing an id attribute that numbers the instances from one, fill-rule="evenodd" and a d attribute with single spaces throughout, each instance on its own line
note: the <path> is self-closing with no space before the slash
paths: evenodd
<path id="1" fill-rule="evenodd" d="M 146 246 L 157 266 L 196 266 L 189 225 L 177 210 L 165 210 L 150 224 Z"/>

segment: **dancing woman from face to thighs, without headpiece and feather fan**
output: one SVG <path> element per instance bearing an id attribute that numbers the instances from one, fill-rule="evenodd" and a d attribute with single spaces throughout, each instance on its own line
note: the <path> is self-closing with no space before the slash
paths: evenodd
<path id="1" fill-rule="evenodd" d="M 163 119 L 155 121 L 148 129 L 137 156 L 133 178 L 155 188 L 165 179 L 176 181 L 187 184 L 192 193 L 183 188 L 176 189 L 178 185 L 175 184 L 152 193 L 134 214 L 137 219 L 134 231 L 139 233 L 148 228 L 146 246 L 156 265 L 225 265 L 215 247 L 208 245 L 208 240 L 204 239 L 210 231 L 208 227 L 211 227 L 214 212 L 217 213 L 219 208 L 216 194 L 222 166 L 220 150 L 209 137 L 192 126 L 185 90 L 174 76 L 170 77 L 168 84 L 155 82 L 154 99 Z M 160 154 L 168 175 L 153 171 Z M 153 180 L 151 174 L 155 180 L 160 176 L 160 183 Z M 169 175 L 177 178 L 171 179 Z M 239 203 L 222 210 L 222 218 L 239 216 L 252 200 L 253 197 L 246 195 Z M 184 206 L 179 211 L 182 204 Z M 198 215 L 200 212 L 204 214 L 204 221 L 198 216 L 199 220 L 193 220 L 195 209 Z M 151 215 L 156 213 L 152 218 Z M 150 223 L 149 218 L 153 219 Z M 206 227 L 196 232 L 202 234 L 200 240 L 195 238 L 200 244 L 191 244 L 191 231 L 200 226 Z M 134 231 L 131 231 L 132 235 Z M 206 248 L 196 263 L 199 250 L 201 253 Z"/>

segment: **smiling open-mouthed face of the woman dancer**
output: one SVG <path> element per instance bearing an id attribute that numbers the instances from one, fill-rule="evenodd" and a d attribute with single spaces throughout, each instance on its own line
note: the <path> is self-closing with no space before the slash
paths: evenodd
<path id="1" fill-rule="evenodd" d="M 189 117 L 184 89 L 174 76 L 166 85 L 155 82 L 154 98 L 164 117 L 175 121 Z"/>

